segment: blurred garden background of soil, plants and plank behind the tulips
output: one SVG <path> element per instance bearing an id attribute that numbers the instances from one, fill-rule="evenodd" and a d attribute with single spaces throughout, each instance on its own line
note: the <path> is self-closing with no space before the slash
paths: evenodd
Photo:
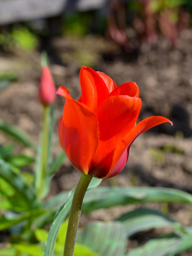
<path id="1" fill-rule="evenodd" d="M 56 87 L 67 87 L 75 99 L 82 65 L 105 72 L 117 85 L 134 81 L 143 102 L 139 120 L 163 115 L 174 126 L 163 124 L 141 135 L 125 170 L 103 184 L 192 193 L 191 13 L 191 0 L 0 0 L 0 118 L 38 141 L 42 52 L 47 52 Z M 57 97 L 56 153 L 63 103 Z M 0 144 L 6 143 L 9 137 L 0 133 Z M 17 145 L 16 150 L 29 149 Z M 71 189 L 78 177 L 66 159 L 51 193 Z M 176 207 L 170 212 L 190 225 L 187 206 Z M 102 214 L 98 218 L 112 213 Z"/>

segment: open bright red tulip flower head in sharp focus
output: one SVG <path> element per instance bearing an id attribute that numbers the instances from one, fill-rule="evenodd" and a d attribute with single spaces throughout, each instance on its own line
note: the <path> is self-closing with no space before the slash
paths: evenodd
<path id="1" fill-rule="evenodd" d="M 129 148 L 142 132 L 165 122 L 161 116 L 148 117 L 137 125 L 141 99 L 136 83 L 120 86 L 106 74 L 83 66 L 80 70 L 82 95 L 75 101 L 60 87 L 65 97 L 59 121 L 60 143 L 74 167 L 81 173 L 109 178 L 120 173 Z"/>

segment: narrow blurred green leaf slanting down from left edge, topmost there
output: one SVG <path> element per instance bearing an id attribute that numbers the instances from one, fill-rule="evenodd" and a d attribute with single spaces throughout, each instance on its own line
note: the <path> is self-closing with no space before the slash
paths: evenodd
<path id="1" fill-rule="evenodd" d="M 9 136 L 13 137 L 14 139 L 22 143 L 24 146 L 36 150 L 36 146 L 35 144 L 33 144 L 29 136 L 23 130 L 20 130 L 20 128 L 18 128 L 17 126 L 8 124 L 2 119 L 0 119 L 0 130 L 7 133 Z"/>

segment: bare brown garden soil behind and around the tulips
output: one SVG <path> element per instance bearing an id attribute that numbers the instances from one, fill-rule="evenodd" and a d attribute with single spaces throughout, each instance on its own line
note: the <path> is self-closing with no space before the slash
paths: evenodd
<path id="1" fill-rule="evenodd" d="M 91 65 L 112 77 L 117 85 L 127 81 L 137 83 L 142 99 L 139 120 L 151 115 L 163 115 L 174 123 L 173 126 L 162 124 L 139 136 L 131 147 L 125 169 L 111 180 L 103 180 L 102 185 L 172 187 L 192 193 L 192 31 L 183 31 L 174 48 L 165 38 L 160 38 L 155 47 L 143 43 L 131 60 L 129 56 L 122 56 L 116 45 L 93 35 L 57 38 L 46 49 L 57 88 L 60 85 L 67 87 L 75 99 L 80 95 L 80 66 Z M 16 74 L 18 80 L 0 93 L 0 117 L 19 126 L 38 142 L 42 117 L 37 99 L 40 78 L 38 49 L 26 53 L 16 48 L 12 54 L 2 53 L 0 74 L 8 72 Z M 63 103 L 63 99 L 57 97 L 56 154 L 61 149 L 57 126 Z M 12 140 L 0 133 L 0 143 L 12 143 Z M 17 144 L 16 150 L 30 153 L 29 149 Z M 66 159 L 53 177 L 49 196 L 76 186 L 79 175 Z M 161 206 L 154 207 L 161 209 Z M 109 220 L 125 210 L 127 208 L 116 207 L 95 211 L 83 216 L 81 222 Z M 169 213 L 183 225 L 192 225 L 189 206 L 170 204 Z M 150 236 L 147 232 L 138 234 L 129 246 L 138 246 L 152 235 L 156 236 L 156 231 Z M 181 255 L 190 256 L 192 252 Z"/>

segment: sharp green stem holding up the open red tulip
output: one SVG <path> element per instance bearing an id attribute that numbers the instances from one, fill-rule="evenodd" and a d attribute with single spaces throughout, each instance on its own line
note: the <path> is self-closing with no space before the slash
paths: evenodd
<path id="1" fill-rule="evenodd" d="M 69 215 L 69 223 L 67 227 L 67 235 L 65 239 L 65 248 L 63 256 L 74 255 L 74 247 L 80 220 L 83 198 L 91 180 L 92 176 L 82 174 L 76 187 L 76 191 L 74 193 L 73 201 L 71 204 L 71 211 Z"/>

